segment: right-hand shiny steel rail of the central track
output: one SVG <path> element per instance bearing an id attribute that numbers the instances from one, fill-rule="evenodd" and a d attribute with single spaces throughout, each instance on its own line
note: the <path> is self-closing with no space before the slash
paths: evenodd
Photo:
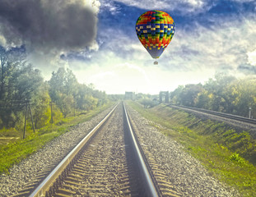
<path id="1" fill-rule="evenodd" d="M 149 172 L 149 170 L 147 168 L 147 164 L 144 161 L 141 149 L 139 148 L 139 145 L 137 144 L 137 140 L 136 140 L 135 134 L 133 132 L 132 126 L 130 124 L 130 121 L 128 118 L 128 112 L 125 108 L 124 103 L 123 103 L 123 109 L 124 109 L 124 113 L 125 113 L 125 119 L 128 124 L 128 129 L 130 131 L 130 135 L 133 140 L 133 145 L 134 145 L 134 149 L 135 149 L 135 153 L 136 153 L 137 162 L 138 162 L 139 168 L 141 169 L 143 181 L 145 181 L 146 191 L 148 193 L 147 196 L 154 196 L 154 197 L 159 196 L 160 192 L 157 190 L 157 188 L 154 184 L 154 181 L 152 181 L 151 173 Z"/>

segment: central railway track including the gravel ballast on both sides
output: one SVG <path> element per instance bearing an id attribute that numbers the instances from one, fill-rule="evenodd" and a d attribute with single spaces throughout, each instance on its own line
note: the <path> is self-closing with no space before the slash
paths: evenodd
<path id="1" fill-rule="evenodd" d="M 162 135 L 133 108 L 124 110 L 119 105 L 107 121 L 100 122 L 109 110 L 46 144 L 13 167 L 10 175 L 0 176 L 0 195 L 239 196 L 212 178 L 182 146 Z M 87 135 L 90 131 L 95 133 L 92 138 Z M 86 135 L 87 140 L 77 145 L 85 152 L 72 150 Z M 141 153 L 136 156 L 134 149 Z M 74 152 L 78 154 L 66 157 Z"/>

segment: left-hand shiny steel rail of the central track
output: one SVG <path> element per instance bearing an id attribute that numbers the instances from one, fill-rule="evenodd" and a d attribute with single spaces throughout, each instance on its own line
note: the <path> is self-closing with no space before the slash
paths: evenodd
<path id="1" fill-rule="evenodd" d="M 62 162 L 58 164 L 57 167 L 47 176 L 44 181 L 30 194 L 30 197 L 40 197 L 44 196 L 45 192 L 49 190 L 49 187 L 52 183 L 58 178 L 58 176 L 63 172 L 63 168 L 67 167 L 69 163 L 71 163 L 72 158 L 74 158 L 79 150 L 86 144 L 88 140 L 90 140 L 91 136 L 95 134 L 95 132 L 104 124 L 104 122 L 110 117 L 110 115 L 114 112 L 115 108 L 117 108 L 118 104 L 108 113 L 108 115 L 100 121 L 100 123 L 95 126 L 88 135 L 84 139 L 81 140 L 77 146 L 72 149 L 70 153 L 67 154 L 65 158 L 63 158 Z"/>

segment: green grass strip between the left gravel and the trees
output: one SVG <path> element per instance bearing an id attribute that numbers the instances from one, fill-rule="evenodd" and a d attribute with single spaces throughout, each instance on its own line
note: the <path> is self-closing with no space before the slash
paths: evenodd
<path id="1" fill-rule="evenodd" d="M 56 124 L 44 126 L 40 130 L 35 131 L 35 134 L 29 130 L 27 131 L 26 139 L 16 140 L 9 144 L 0 144 L 0 173 L 6 172 L 15 163 L 20 163 L 21 160 L 27 158 L 30 154 L 35 153 L 38 149 L 42 148 L 49 141 L 54 140 L 54 138 L 62 135 L 63 133 L 70 130 L 71 126 L 75 126 L 83 121 L 88 121 L 92 117 L 95 117 L 98 113 L 109 108 L 113 103 L 96 108 L 93 111 L 87 112 L 79 117 L 67 117 L 61 122 L 56 122 Z M 12 135 L 21 135 L 21 132 L 10 131 Z M 4 136 L 8 134 L 7 130 L 1 132 Z"/>

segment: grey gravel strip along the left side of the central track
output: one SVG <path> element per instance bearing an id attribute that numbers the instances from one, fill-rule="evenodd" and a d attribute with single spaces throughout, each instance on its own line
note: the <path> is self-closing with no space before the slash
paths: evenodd
<path id="1" fill-rule="evenodd" d="M 14 165 L 9 170 L 8 175 L 3 173 L 0 176 L 0 196 L 16 195 L 28 182 L 38 179 L 40 173 L 43 174 L 43 176 L 40 176 L 43 179 L 46 176 L 44 172 L 48 172 L 48 169 L 55 167 L 111 109 L 100 112 L 89 121 L 72 126 L 70 131 L 55 138 L 46 144 L 43 149 L 30 155 L 21 163 Z"/>

